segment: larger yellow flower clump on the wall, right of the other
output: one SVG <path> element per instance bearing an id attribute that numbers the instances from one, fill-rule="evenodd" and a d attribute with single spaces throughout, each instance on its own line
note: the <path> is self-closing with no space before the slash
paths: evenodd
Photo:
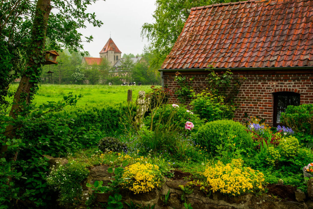
<path id="1" fill-rule="evenodd" d="M 243 160 L 233 159 L 226 165 L 218 161 L 205 169 L 203 175 L 212 191 L 223 194 L 239 196 L 249 192 L 264 190 L 264 174 L 258 170 L 243 166 Z"/>

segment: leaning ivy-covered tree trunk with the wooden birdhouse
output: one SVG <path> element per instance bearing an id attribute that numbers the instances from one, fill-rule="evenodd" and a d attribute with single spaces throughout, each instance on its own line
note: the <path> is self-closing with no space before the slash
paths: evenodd
<path id="1" fill-rule="evenodd" d="M 36 13 L 33 19 L 32 37 L 27 52 L 29 60 L 14 94 L 13 104 L 9 114 L 13 119 L 16 119 L 24 102 L 26 105 L 29 104 L 30 98 L 36 92 L 37 84 L 40 82 L 40 76 L 42 73 L 41 65 L 43 65 L 45 61 L 43 51 L 50 10 L 50 0 L 37 1 Z M 14 136 L 13 131 L 14 127 L 9 125 L 6 127 L 4 135 L 12 138 Z M 7 150 L 7 145 L 1 147 L 1 153 L 6 152 Z"/>

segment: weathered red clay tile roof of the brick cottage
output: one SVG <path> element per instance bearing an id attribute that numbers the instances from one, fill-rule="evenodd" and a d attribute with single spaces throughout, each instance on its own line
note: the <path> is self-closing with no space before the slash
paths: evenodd
<path id="1" fill-rule="evenodd" d="M 162 69 L 313 66 L 313 0 L 191 9 Z"/>

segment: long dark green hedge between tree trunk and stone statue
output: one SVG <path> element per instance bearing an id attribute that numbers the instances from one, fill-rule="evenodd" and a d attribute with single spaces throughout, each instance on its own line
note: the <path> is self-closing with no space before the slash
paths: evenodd
<path id="1" fill-rule="evenodd" d="M 124 104 L 73 107 L 49 114 L 49 122 L 24 126 L 18 134 L 24 142 L 35 144 L 39 155 L 64 156 L 69 151 L 97 146 L 104 136 L 122 133 L 125 127 L 121 115 L 126 111 Z"/>

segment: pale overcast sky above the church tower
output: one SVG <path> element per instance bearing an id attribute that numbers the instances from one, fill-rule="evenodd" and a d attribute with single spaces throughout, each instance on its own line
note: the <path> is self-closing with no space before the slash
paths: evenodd
<path id="1" fill-rule="evenodd" d="M 153 22 L 154 3 L 155 0 L 106 0 L 89 6 L 87 11 L 95 12 L 97 19 L 104 24 L 100 28 L 87 24 L 87 28 L 79 30 L 84 36 L 94 37 L 93 42 L 83 42 L 84 50 L 92 57 L 99 57 L 111 32 L 111 38 L 122 55 L 141 54 L 147 44 L 147 40 L 140 36 L 141 26 Z"/>

